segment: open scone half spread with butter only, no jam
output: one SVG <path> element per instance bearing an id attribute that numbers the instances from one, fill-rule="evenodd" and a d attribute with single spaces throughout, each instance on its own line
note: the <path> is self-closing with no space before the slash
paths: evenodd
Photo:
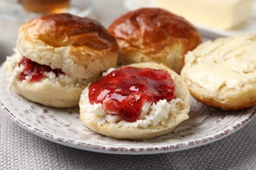
<path id="1" fill-rule="evenodd" d="M 200 44 L 185 56 L 181 76 L 205 105 L 239 110 L 256 104 L 256 33 Z"/>

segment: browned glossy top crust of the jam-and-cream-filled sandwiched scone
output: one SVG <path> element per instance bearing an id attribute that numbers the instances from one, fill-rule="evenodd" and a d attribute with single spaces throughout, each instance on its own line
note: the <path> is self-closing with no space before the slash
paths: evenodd
<path id="1" fill-rule="evenodd" d="M 39 39 L 53 47 L 87 46 L 93 50 L 117 49 L 116 40 L 95 20 L 72 14 L 47 14 L 22 25 L 27 39 Z"/>

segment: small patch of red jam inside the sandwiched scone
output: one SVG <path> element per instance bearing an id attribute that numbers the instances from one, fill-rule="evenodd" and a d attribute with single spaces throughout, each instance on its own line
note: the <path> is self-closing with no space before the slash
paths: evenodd
<path id="1" fill-rule="evenodd" d="M 39 82 L 45 77 L 46 73 L 51 71 L 53 71 L 56 76 L 64 74 L 61 69 L 52 69 L 48 65 L 41 65 L 25 57 L 22 57 L 22 60 L 18 65 L 22 65 L 24 67 L 24 70 L 20 73 L 19 80 L 26 80 L 26 76 L 31 76 L 29 80 L 30 82 Z"/>

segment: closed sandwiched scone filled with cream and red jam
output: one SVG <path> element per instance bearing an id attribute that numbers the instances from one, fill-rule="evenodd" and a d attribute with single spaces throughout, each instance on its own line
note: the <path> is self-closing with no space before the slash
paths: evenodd
<path id="1" fill-rule="evenodd" d="M 11 88 L 52 107 L 74 107 L 88 81 L 117 62 L 116 39 L 95 20 L 47 14 L 22 25 L 5 71 Z"/>

